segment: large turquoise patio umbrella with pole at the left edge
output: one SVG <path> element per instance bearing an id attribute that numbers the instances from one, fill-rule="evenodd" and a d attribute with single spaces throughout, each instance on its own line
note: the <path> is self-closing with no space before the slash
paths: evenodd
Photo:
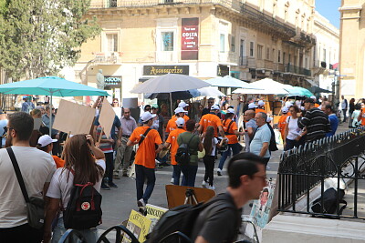
<path id="1" fill-rule="evenodd" d="M 50 96 L 51 107 L 53 96 L 109 96 L 104 90 L 91 86 L 84 86 L 58 76 L 44 76 L 1 85 L 0 93 L 5 95 L 28 94 Z M 49 116 L 49 124 L 52 124 L 52 116 Z M 49 126 L 49 135 L 51 134 L 51 129 L 52 126 Z"/>

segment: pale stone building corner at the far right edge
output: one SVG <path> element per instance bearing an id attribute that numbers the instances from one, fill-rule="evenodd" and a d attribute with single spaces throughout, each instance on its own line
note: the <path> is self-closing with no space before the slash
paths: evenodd
<path id="1" fill-rule="evenodd" d="M 365 97 L 365 0 L 342 0 L 339 95 Z"/>

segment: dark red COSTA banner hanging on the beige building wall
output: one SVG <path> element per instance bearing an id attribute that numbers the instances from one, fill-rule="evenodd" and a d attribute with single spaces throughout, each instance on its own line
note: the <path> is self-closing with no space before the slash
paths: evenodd
<path id="1" fill-rule="evenodd" d="M 199 18 L 182 19 L 182 60 L 198 60 Z"/>

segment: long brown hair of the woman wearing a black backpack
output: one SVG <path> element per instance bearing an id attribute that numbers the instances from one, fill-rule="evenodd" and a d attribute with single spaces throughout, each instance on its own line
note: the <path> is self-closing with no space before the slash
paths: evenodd
<path id="1" fill-rule="evenodd" d="M 85 135 L 78 134 L 70 137 L 65 145 L 62 158 L 65 160 L 62 173 L 68 172 L 69 177 L 71 169 L 75 171 L 74 184 L 91 182 L 95 185 L 102 179 L 103 168 L 95 163 Z"/>

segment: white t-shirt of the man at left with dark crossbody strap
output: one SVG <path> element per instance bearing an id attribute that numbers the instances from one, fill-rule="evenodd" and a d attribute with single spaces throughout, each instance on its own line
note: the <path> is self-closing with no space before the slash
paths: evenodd
<path id="1" fill-rule="evenodd" d="M 42 198 L 45 182 L 51 180 L 56 170 L 53 157 L 36 147 L 12 148 L 28 197 Z M 0 185 L 0 228 L 13 228 L 26 224 L 26 200 L 5 148 L 0 149 Z"/>

